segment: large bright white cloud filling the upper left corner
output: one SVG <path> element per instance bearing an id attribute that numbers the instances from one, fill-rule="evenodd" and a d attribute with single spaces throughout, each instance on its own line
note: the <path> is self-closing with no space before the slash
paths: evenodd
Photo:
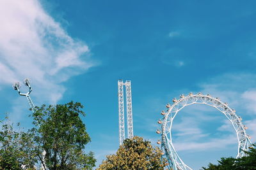
<path id="1" fill-rule="evenodd" d="M 68 36 L 37 0 L 0 1 L 0 23 L 1 89 L 29 77 L 37 101 L 56 103 L 63 81 L 95 65 L 88 46 Z"/>

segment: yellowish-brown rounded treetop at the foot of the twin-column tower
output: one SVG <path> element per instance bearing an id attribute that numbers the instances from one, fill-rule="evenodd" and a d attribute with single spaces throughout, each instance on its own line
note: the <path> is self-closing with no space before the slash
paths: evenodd
<path id="1" fill-rule="evenodd" d="M 153 148 L 150 141 L 143 141 L 143 138 L 134 136 L 124 140 L 116 155 L 108 155 L 98 170 L 156 170 L 163 167 L 161 150 Z"/>

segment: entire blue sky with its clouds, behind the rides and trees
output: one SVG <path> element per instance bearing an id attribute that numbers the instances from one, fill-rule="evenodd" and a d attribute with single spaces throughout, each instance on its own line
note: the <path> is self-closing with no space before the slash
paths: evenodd
<path id="1" fill-rule="evenodd" d="M 118 148 L 117 81 L 131 80 L 134 134 L 156 145 L 166 103 L 189 92 L 220 97 L 256 140 L 255 1 L 1 1 L 1 116 L 31 127 L 29 106 L 12 90 L 29 77 L 43 103 L 84 104 L 100 164 Z M 21 90 L 27 90 L 24 87 Z M 200 169 L 236 156 L 236 134 L 207 106 L 180 111 L 173 141 Z"/>

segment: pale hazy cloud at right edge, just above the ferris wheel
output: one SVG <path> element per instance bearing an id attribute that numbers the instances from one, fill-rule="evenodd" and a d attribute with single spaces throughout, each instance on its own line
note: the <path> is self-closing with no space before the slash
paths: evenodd
<path id="1" fill-rule="evenodd" d="M 216 76 L 201 83 L 199 87 L 204 94 L 219 97 L 230 107 L 252 114 L 256 113 L 256 96 L 253 96 L 255 90 L 252 90 L 255 84 L 255 74 L 236 73 Z"/>

